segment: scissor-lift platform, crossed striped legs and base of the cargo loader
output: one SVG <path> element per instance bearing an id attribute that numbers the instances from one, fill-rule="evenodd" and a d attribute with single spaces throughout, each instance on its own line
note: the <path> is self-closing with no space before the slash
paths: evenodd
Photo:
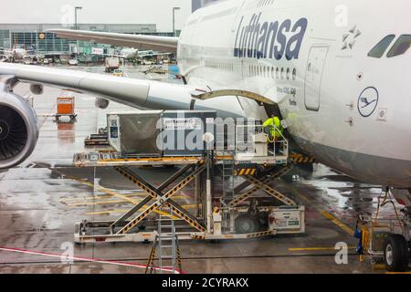
<path id="1" fill-rule="evenodd" d="M 222 202 L 218 207 L 216 198 L 207 197 L 212 193 L 213 180 L 206 183 L 206 178 L 215 168 L 224 167 L 224 163 L 234 162 L 235 176 L 243 178 L 243 182 L 233 189 L 235 195 Z M 247 239 L 279 234 L 300 234 L 305 232 L 304 206 L 298 206 L 292 199 L 276 190 L 275 179 L 290 170 L 290 164 L 311 162 L 300 154 L 272 155 L 266 158 L 236 160 L 234 153 L 216 151 L 204 157 L 128 157 L 122 158 L 115 151 L 80 153 L 74 156 L 75 167 L 113 167 L 121 175 L 142 189 L 147 196 L 141 203 L 115 221 L 89 222 L 76 225 L 75 242 L 79 244 L 96 242 L 153 242 L 157 235 L 156 216 L 161 209 L 174 214 L 170 220 L 176 224 L 180 240 L 205 239 Z M 179 165 L 179 169 L 159 187 L 148 183 L 131 167 L 153 165 Z M 198 183 L 198 182 L 203 183 Z M 196 182 L 195 198 L 197 214 L 191 214 L 173 200 L 173 196 L 189 183 Z M 206 186 L 206 190 L 202 185 Z M 253 212 L 266 214 L 267 224 L 249 233 L 237 233 L 233 226 L 240 216 L 250 213 L 252 201 L 256 193 L 263 191 L 266 197 L 278 202 L 276 205 L 256 205 Z M 257 200 L 257 199 L 256 199 Z M 256 201 L 257 202 L 257 201 Z M 245 204 L 246 203 L 246 204 Z M 247 204 L 248 203 L 248 204 Z M 214 210 L 213 210 L 214 207 Z M 164 215 L 164 214 L 163 214 Z M 230 223 L 225 223 L 230 221 Z"/>

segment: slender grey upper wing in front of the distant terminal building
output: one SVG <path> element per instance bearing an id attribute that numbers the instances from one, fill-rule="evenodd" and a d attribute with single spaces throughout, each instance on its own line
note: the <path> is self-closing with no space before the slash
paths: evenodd
<path id="1" fill-rule="evenodd" d="M 176 53 L 178 37 L 173 36 L 143 36 L 104 33 L 73 29 L 47 29 L 47 33 L 54 33 L 58 37 L 90 41 L 100 44 L 109 44 L 122 47 L 134 47 L 141 49 L 157 49 Z"/>

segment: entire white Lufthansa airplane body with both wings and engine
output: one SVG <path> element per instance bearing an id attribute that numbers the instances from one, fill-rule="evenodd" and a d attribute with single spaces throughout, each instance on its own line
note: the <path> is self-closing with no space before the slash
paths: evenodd
<path id="1" fill-rule="evenodd" d="M 179 38 L 52 29 L 58 36 L 175 51 L 185 85 L 0 64 L 0 167 L 23 162 L 36 116 L 17 82 L 88 92 L 139 109 L 217 110 L 265 120 L 276 107 L 303 151 L 366 183 L 411 188 L 411 45 L 406 0 L 227 0 L 195 12 Z M 346 19 L 339 19 L 339 13 Z M 251 94 L 198 100 L 199 90 Z M 253 95 L 254 94 L 254 95 Z M 97 102 L 107 106 L 108 102 Z"/>

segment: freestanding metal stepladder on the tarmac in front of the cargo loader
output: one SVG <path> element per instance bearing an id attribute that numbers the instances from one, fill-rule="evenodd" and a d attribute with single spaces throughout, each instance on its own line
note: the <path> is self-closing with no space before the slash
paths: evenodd
<path id="1" fill-rule="evenodd" d="M 155 236 L 145 274 L 153 274 L 156 270 L 158 270 L 160 274 L 163 274 L 163 272 L 178 274 L 182 270 L 182 261 L 178 237 L 175 232 L 173 210 L 170 210 L 171 214 L 169 218 L 163 215 L 163 207 L 161 207 L 159 211 L 157 235 Z M 170 222 L 170 224 L 164 224 L 164 222 Z M 156 248 L 158 249 L 158 266 L 154 266 Z M 170 265 L 165 265 L 164 263 L 166 262 Z"/>

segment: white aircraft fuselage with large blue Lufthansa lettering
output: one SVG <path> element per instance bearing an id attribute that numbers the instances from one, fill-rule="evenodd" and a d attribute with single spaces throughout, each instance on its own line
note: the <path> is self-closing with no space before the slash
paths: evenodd
<path id="1" fill-rule="evenodd" d="M 409 33 L 406 5 L 225 1 L 187 21 L 179 66 L 190 85 L 246 89 L 276 101 L 294 141 L 333 169 L 366 183 L 410 188 L 411 51 L 386 56 Z M 382 26 L 386 16 L 393 21 Z M 389 35 L 395 37 L 384 55 L 368 57 Z M 267 118 L 254 100 L 209 101 L 210 108 L 216 104 Z"/>

